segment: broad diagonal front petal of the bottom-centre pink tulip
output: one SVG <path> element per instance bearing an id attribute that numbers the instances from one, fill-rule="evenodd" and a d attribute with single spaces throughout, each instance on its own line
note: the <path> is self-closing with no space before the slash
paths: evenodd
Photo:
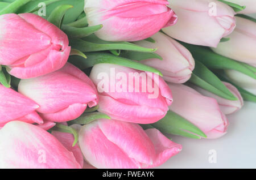
<path id="1" fill-rule="evenodd" d="M 98 126 L 106 138 L 122 149 L 128 157 L 143 164 L 154 162 L 154 145 L 141 126 L 113 119 L 101 119 Z"/>

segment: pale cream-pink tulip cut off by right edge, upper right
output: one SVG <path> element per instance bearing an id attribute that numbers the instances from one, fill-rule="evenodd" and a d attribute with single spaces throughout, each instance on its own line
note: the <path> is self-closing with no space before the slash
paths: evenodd
<path id="1" fill-rule="evenodd" d="M 236 17 L 236 20 L 236 29 L 227 36 L 230 40 L 221 42 L 212 50 L 225 57 L 256 66 L 256 23 L 240 17 Z"/>

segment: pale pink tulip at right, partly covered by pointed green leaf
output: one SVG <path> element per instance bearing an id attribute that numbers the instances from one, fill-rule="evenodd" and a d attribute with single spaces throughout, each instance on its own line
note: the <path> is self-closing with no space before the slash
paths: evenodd
<path id="1" fill-rule="evenodd" d="M 195 89 L 197 92 L 201 93 L 201 95 L 204 95 L 207 97 L 212 97 L 212 98 L 216 99 L 218 102 L 218 105 L 220 106 L 221 112 L 223 112 L 224 114 L 232 114 L 234 112 L 237 112 L 243 106 L 243 98 L 242 98 L 240 92 L 232 84 L 226 83 L 226 82 L 222 82 L 222 83 L 229 89 L 230 92 L 233 93 L 233 95 L 235 97 L 237 97 L 236 101 L 227 100 L 220 96 L 214 95 L 213 93 L 211 93 L 205 89 L 202 89 L 200 87 L 195 86 L 195 87 L 193 87 L 193 89 Z"/>

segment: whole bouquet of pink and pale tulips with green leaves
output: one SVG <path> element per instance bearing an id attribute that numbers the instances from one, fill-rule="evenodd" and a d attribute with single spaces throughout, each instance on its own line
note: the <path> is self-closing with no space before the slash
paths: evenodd
<path id="1" fill-rule="evenodd" d="M 181 151 L 172 135 L 225 135 L 226 114 L 256 102 L 251 13 L 254 0 L 0 1 L 0 168 L 154 168 Z"/>

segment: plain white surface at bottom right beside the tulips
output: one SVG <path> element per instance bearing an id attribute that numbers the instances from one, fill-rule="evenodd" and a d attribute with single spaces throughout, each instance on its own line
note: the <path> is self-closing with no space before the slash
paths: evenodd
<path id="1" fill-rule="evenodd" d="M 170 136 L 182 144 L 182 151 L 158 168 L 256 168 L 256 103 L 227 116 L 228 133 L 219 139 L 189 139 Z M 209 151 L 216 151 L 216 162 L 209 163 Z"/>

